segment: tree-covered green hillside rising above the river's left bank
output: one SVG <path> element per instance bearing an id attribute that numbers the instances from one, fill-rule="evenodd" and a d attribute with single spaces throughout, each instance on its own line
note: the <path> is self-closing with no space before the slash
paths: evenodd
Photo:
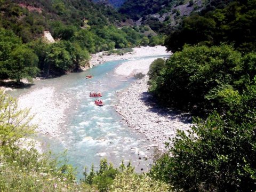
<path id="1" fill-rule="evenodd" d="M 91 1 L 2 1 L 0 10 L 0 79 L 18 83 L 79 71 L 90 53 L 164 43 L 121 26 L 124 16 Z M 55 43 L 42 38 L 44 31 Z"/>

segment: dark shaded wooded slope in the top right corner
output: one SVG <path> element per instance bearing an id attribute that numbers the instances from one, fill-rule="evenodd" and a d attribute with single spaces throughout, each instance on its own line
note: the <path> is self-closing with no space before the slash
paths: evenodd
<path id="1" fill-rule="evenodd" d="M 215 2 L 213 7 L 217 5 Z M 183 19 L 180 29 L 172 30 L 166 39 L 167 49 L 179 51 L 185 44 L 228 42 L 239 51 L 255 51 L 255 1 L 234 1 L 226 7 L 218 7 L 220 9 L 212 8 L 214 10 L 206 7 L 201 13 Z"/>

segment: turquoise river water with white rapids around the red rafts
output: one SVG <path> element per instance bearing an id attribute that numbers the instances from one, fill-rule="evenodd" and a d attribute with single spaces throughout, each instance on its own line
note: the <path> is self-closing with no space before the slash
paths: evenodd
<path id="1" fill-rule="evenodd" d="M 66 157 L 70 164 L 77 167 L 78 178 L 82 177 L 84 166 L 90 169 L 93 163 L 97 169 L 101 158 L 107 158 L 115 166 L 119 166 L 122 160 L 125 163 L 131 161 L 137 172 L 150 168 L 151 160 L 146 158 L 153 153 L 152 149 L 148 150 L 151 143 L 125 126 L 115 109 L 118 99 L 116 92 L 125 89 L 136 79 L 114 73 L 114 69 L 125 61 L 106 62 L 82 73 L 37 81 L 30 89 L 11 93 L 18 96 L 35 88 L 51 86 L 55 87 L 57 93 L 69 95 L 71 107 L 66 111 L 66 123 L 61 127 L 65 134 L 59 138 L 39 135 L 39 140 L 49 146 L 53 153 L 67 150 Z M 85 78 L 89 74 L 93 75 L 92 79 Z M 94 105 L 94 98 L 89 97 L 89 93 L 94 91 L 103 94 L 101 99 L 105 106 Z"/>

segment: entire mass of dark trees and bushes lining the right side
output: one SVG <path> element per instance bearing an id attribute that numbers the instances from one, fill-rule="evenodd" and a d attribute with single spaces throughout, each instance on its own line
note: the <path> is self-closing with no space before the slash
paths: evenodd
<path id="1" fill-rule="evenodd" d="M 174 189 L 256 188 L 254 12 L 255 1 L 235 1 L 186 18 L 166 40 L 175 53 L 150 66 L 149 91 L 165 106 L 195 116 L 194 126 L 166 143 L 168 153 L 150 171 Z"/>

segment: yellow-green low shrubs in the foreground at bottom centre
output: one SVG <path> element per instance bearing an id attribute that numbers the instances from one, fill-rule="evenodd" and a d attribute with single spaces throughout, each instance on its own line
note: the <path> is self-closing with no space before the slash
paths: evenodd
<path id="1" fill-rule="evenodd" d="M 122 162 L 119 168 L 107 163 L 107 159 L 100 162 L 99 171 L 94 171 L 94 165 L 87 174 L 85 167 L 84 183 L 97 188 L 99 191 L 170 191 L 170 185 L 163 181 L 151 179 L 146 173 L 134 173 L 131 164 L 126 166 Z"/>

